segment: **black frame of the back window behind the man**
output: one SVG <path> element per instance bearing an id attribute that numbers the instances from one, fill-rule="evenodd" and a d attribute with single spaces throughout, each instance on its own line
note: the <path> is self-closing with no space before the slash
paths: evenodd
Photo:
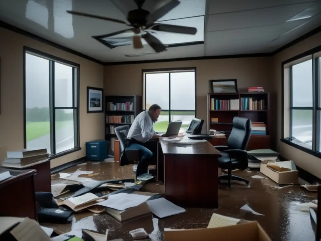
<path id="1" fill-rule="evenodd" d="M 170 73 L 180 73 L 180 72 L 193 72 L 194 71 L 194 81 L 195 81 L 195 110 L 172 110 L 170 108 Z M 170 122 L 170 112 L 195 112 L 194 117 L 196 117 L 196 67 L 185 67 L 185 68 L 160 68 L 160 69 L 143 69 L 142 70 L 142 76 L 143 76 L 143 93 L 144 93 L 144 103 L 143 103 L 143 110 L 146 110 L 146 74 L 153 74 L 152 72 L 157 73 L 168 73 L 169 74 L 169 103 L 168 103 L 168 110 L 162 109 L 162 111 L 168 111 L 168 122 Z"/>

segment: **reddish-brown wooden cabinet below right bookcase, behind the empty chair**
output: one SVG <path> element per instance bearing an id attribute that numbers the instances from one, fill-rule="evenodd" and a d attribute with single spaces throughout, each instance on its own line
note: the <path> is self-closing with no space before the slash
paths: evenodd
<path id="1" fill-rule="evenodd" d="M 212 138 L 209 140 L 213 146 L 226 146 L 228 136 Z M 247 151 L 256 149 L 270 149 L 270 136 L 269 135 L 251 135 L 247 144 Z"/>

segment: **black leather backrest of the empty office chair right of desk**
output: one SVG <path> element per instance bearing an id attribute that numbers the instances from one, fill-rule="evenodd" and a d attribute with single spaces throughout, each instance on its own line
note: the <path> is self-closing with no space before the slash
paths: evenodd
<path id="1" fill-rule="evenodd" d="M 227 146 L 231 149 L 245 150 L 251 136 L 251 129 L 251 120 L 234 117 L 232 131 L 227 140 Z"/>

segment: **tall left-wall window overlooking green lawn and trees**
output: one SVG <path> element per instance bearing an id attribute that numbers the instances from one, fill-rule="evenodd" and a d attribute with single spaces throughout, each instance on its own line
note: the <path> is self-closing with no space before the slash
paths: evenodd
<path id="1" fill-rule="evenodd" d="M 79 65 L 29 48 L 24 54 L 25 148 L 47 148 L 52 157 L 79 149 Z"/>

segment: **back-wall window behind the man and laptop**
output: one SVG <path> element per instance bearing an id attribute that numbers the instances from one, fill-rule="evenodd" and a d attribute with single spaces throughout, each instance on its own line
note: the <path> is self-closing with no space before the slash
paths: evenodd
<path id="1" fill-rule="evenodd" d="M 159 104 L 162 108 L 154 124 L 156 132 L 166 132 L 170 121 L 182 121 L 180 132 L 184 132 L 195 118 L 195 72 L 195 68 L 143 71 L 143 109 L 147 110 L 152 104 Z"/>

